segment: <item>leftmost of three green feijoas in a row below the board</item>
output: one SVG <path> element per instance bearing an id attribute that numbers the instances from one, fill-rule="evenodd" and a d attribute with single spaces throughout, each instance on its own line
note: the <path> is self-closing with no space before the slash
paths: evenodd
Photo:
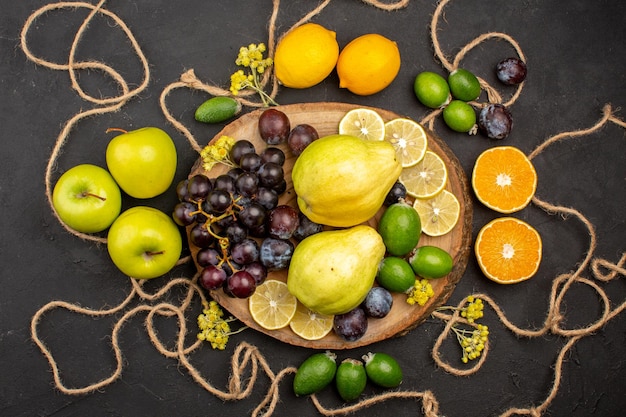
<path id="1" fill-rule="evenodd" d="M 337 356 L 328 351 L 309 356 L 296 371 L 293 379 L 293 392 L 300 396 L 324 389 L 335 377 L 336 359 Z"/>

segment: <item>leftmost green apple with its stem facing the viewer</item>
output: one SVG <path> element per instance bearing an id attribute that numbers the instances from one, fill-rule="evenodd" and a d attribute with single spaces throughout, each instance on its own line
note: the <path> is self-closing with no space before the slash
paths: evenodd
<path id="1" fill-rule="evenodd" d="M 52 191 L 52 205 L 72 229 L 96 233 L 120 214 L 122 193 L 106 169 L 82 164 L 61 175 Z"/>

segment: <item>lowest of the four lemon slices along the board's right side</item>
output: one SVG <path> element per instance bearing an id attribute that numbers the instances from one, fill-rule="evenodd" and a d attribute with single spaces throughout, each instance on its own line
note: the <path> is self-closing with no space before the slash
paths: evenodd
<path id="1" fill-rule="evenodd" d="M 413 207 L 420 215 L 422 232 L 428 236 L 445 235 L 454 228 L 461 214 L 459 200 L 448 190 L 432 198 L 416 198 Z"/>

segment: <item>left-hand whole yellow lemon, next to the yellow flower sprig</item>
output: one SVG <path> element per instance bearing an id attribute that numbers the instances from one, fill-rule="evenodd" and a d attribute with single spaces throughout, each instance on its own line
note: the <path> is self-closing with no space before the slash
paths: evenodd
<path id="1" fill-rule="evenodd" d="M 328 77 L 337 64 L 337 34 L 316 23 L 287 33 L 276 46 L 274 72 L 285 87 L 308 88 Z"/>

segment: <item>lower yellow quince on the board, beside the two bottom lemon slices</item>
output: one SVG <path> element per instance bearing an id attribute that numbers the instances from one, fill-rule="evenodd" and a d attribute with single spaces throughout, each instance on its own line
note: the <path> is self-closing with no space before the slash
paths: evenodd
<path id="1" fill-rule="evenodd" d="M 314 312 L 347 313 L 367 296 L 384 256 L 383 239 L 370 226 L 320 232 L 296 246 L 287 287 Z"/>

